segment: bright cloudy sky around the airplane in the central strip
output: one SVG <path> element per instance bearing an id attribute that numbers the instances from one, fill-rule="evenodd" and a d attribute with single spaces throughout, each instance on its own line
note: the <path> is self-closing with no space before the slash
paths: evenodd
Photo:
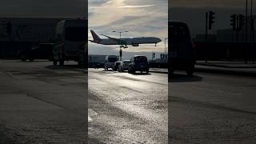
<path id="1" fill-rule="evenodd" d="M 126 54 L 151 54 L 152 51 L 164 51 L 164 39 L 168 37 L 168 1 L 167 0 L 90 0 L 89 29 L 97 34 L 106 34 L 119 38 L 112 31 L 128 31 L 122 38 L 158 37 L 162 42 L 128 46 Z M 91 37 L 89 31 L 89 39 Z M 101 38 L 104 38 L 101 36 Z M 167 43 L 167 42 L 166 42 Z M 89 43 L 89 54 L 118 54 L 119 46 L 103 46 Z"/>

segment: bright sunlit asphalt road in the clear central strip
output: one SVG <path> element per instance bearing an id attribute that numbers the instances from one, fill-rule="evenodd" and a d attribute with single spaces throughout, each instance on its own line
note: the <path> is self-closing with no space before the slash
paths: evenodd
<path id="1" fill-rule="evenodd" d="M 168 143 L 167 74 L 88 75 L 89 143 Z"/>

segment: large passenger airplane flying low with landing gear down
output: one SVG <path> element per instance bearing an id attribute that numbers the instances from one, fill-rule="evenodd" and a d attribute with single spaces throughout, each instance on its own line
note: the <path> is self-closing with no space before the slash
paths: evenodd
<path id="1" fill-rule="evenodd" d="M 127 45 L 131 46 L 139 46 L 140 44 L 150 44 L 154 43 L 157 46 L 158 42 L 161 42 L 160 38 L 155 37 L 140 37 L 140 38 L 112 38 L 110 36 L 101 34 L 105 36 L 105 39 L 99 38 L 98 35 L 94 32 L 94 30 L 90 30 L 94 40 L 89 40 L 93 43 L 98 43 L 101 45 L 120 45 L 123 48 L 128 48 Z"/>

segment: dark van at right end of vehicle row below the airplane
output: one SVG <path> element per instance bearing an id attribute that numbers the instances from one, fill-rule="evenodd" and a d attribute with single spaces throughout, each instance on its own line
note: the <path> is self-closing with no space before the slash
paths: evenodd
<path id="1" fill-rule="evenodd" d="M 128 66 L 129 73 L 136 73 L 136 71 L 140 71 L 141 73 L 146 71 L 146 73 L 149 73 L 149 69 L 150 66 L 146 56 L 135 55 L 134 57 L 130 58 L 130 64 Z"/>

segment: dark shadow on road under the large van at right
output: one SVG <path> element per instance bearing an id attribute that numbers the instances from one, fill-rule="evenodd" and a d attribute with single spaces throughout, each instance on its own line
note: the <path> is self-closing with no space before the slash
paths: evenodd
<path id="1" fill-rule="evenodd" d="M 199 82 L 202 77 L 198 75 L 187 76 L 186 74 L 172 74 L 170 82 Z"/>

